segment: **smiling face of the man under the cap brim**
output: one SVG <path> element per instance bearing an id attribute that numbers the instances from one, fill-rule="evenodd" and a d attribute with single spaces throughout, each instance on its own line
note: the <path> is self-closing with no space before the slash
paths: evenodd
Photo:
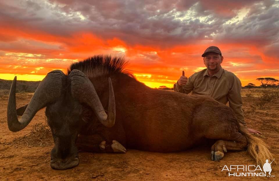
<path id="1" fill-rule="evenodd" d="M 219 70 L 221 63 L 223 62 L 223 56 L 218 53 L 209 52 L 203 57 L 203 63 L 208 68 L 208 70 L 214 71 Z"/>

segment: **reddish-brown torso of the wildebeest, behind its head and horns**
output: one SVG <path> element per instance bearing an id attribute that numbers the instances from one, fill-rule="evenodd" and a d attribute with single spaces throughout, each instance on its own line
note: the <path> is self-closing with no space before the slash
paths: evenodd
<path id="1" fill-rule="evenodd" d="M 238 130 L 232 110 L 209 96 L 190 96 L 149 88 L 127 75 L 110 77 L 116 101 L 115 126 L 105 128 L 100 124 L 99 129 L 110 131 L 94 128 L 92 133 L 87 134 L 107 133 L 103 136 L 108 141 L 117 140 L 128 148 L 173 152 L 185 150 L 203 140 L 205 131 L 213 125 L 217 128 L 222 126 L 222 122 L 230 122 Z M 91 79 L 105 108 L 108 102 L 106 80 L 107 77 Z M 87 117 L 90 119 L 94 115 Z"/>

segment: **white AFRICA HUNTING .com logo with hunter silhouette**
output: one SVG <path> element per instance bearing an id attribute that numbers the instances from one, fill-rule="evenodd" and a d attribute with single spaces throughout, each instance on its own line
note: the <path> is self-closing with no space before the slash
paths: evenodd
<path id="1" fill-rule="evenodd" d="M 272 162 L 274 160 L 275 158 Z M 269 163 L 269 160 L 266 160 L 262 167 L 260 165 L 230 165 L 229 167 L 225 165 L 222 171 L 227 171 L 229 177 L 275 177 L 275 175 L 271 175 L 272 162 Z"/>

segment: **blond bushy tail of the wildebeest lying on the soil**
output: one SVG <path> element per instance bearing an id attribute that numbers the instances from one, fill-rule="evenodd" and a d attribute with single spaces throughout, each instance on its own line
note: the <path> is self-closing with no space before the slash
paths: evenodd
<path id="1" fill-rule="evenodd" d="M 251 135 L 247 128 L 245 128 L 245 126 L 241 123 L 239 123 L 239 131 L 246 137 L 248 141 L 247 151 L 258 165 L 263 165 L 267 159 L 269 160 L 269 163 L 273 160 L 274 157 L 272 153 L 270 153 L 269 146 L 267 146 L 265 142 L 263 142 L 260 138 Z M 275 160 L 273 163 L 274 162 Z M 276 162 L 275 164 L 277 165 Z"/>

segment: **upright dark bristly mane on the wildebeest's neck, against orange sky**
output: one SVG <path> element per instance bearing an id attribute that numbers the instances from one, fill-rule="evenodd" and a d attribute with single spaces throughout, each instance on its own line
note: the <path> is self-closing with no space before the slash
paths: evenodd
<path id="1" fill-rule="evenodd" d="M 67 74 L 69 75 L 72 70 L 78 69 L 89 78 L 112 73 L 121 73 L 135 78 L 132 73 L 124 69 L 127 65 L 128 61 L 125 61 L 124 57 L 94 55 L 93 57 L 88 57 L 83 61 L 71 64 L 67 70 Z"/>

